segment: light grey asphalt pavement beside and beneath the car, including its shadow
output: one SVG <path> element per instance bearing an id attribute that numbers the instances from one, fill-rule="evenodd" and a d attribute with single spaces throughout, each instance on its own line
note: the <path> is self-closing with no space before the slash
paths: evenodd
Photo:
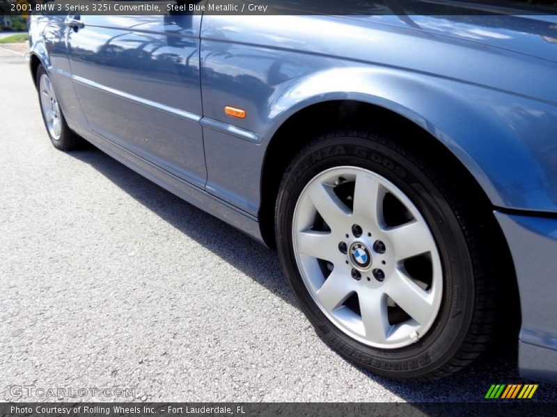
<path id="1" fill-rule="evenodd" d="M 528 383 L 502 346 L 428 384 L 352 366 L 299 311 L 276 252 L 93 147 L 54 149 L 4 49 L 0 132 L 0 400 L 478 401 Z"/>

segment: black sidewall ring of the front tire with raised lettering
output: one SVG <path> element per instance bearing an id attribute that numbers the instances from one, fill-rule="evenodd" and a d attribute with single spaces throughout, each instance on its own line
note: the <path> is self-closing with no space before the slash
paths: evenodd
<path id="1" fill-rule="evenodd" d="M 276 209 L 277 246 L 286 277 L 301 308 L 324 340 L 348 359 L 383 375 L 425 375 L 448 362 L 462 345 L 474 307 L 473 265 L 466 239 L 439 187 L 414 156 L 381 138 L 351 136 L 317 142 L 302 152 L 285 175 Z M 331 167 L 355 166 L 395 184 L 416 205 L 437 243 L 443 268 L 443 296 L 432 327 L 417 343 L 393 350 L 370 347 L 338 329 L 315 304 L 301 278 L 292 245 L 292 221 L 301 191 Z"/>

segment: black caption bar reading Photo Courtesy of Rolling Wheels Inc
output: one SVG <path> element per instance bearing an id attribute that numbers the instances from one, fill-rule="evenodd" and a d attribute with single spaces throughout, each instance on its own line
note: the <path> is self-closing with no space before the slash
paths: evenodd
<path id="1" fill-rule="evenodd" d="M 284 402 L 12 402 L 1 417 L 372 417 L 554 416 L 556 404 L 531 400 L 478 403 L 284 403 Z"/>

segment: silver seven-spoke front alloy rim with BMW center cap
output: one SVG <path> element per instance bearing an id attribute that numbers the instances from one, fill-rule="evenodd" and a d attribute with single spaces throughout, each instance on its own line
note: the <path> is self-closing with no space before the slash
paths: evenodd
<path id="1" fill-rule="evenodd" d="M 432 326 L 441 259 L 418 208 L 391 181 L 350 166 L 317 174 L 295 206 L 292 242 L 311 297 L 345 334 L 393 349 Z"/>

